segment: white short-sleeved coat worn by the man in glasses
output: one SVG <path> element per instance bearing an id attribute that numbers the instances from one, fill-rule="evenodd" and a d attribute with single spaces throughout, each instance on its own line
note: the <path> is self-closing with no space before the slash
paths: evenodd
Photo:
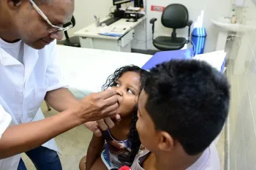
<path id="1" fill-rule="evenodd" d="M 23 63 L 9 55 L 0 45 L 0 137 L 8 124 L 18 125 L 44 119 L 39 107 L 46 92 L 67 88 L 61 79 L 56 41 L 42 50 L 24 45 Z M 54 139 L 42 146 L 59 151 Z M 19 161 L 20 154 L 2 159 L 0 170 L 15 170 Z"/>

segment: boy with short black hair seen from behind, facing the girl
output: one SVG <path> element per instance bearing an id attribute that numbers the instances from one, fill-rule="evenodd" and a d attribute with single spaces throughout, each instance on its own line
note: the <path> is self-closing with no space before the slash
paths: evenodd
<path id="1" fill-rule="evenodd" d="M 138 101 L 137 129 L 147 150 L 132 170 L 219 170 L 212 144 L 230 104 L 227 78 L 208 63 L 170 61 L 151 69 Z"/>

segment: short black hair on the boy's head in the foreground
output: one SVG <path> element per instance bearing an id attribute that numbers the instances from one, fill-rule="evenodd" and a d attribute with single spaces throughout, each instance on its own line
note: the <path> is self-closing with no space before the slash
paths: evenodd
<path id="1" fill-rule="evenodd" d="M 206 150 L 227 118 L 230 85 L 208 63 L 170 61 L 151 69 L 144 90 L 146 110 L 157 130 L 166 131 L 189 155 Z"/>

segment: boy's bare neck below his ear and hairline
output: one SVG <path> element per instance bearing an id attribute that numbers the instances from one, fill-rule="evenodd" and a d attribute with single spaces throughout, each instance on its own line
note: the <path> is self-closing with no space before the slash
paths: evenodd
<path id="1" fill-rule="evenodd" d="M 156 168 L 168 170 L 186 170 L 194 164 L 203 152 L 198 155 L 187 155 L 182 153 L 170 154 L 167 152 L 159 152 L 156 154 Z"/>

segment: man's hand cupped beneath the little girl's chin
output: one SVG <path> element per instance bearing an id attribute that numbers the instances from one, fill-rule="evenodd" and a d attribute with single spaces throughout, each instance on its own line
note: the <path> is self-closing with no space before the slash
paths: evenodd
<path id="1" fill-rule="evenodd" d="M 115 123 L 119 123 L 120 121 L 120 115 L 116 115 Z M 115 123 L 112 119 L 110 119 L 110 117 L 107 117 L 102 120 L 84 123 L 84 125 L 86 125 L 86 128 L 89 128 L 90 131 L 94 132 L 95 136 L 100 137 L 102 136 L 101 130 L 106 131 L 108 128 L 113 128 Z"/>

